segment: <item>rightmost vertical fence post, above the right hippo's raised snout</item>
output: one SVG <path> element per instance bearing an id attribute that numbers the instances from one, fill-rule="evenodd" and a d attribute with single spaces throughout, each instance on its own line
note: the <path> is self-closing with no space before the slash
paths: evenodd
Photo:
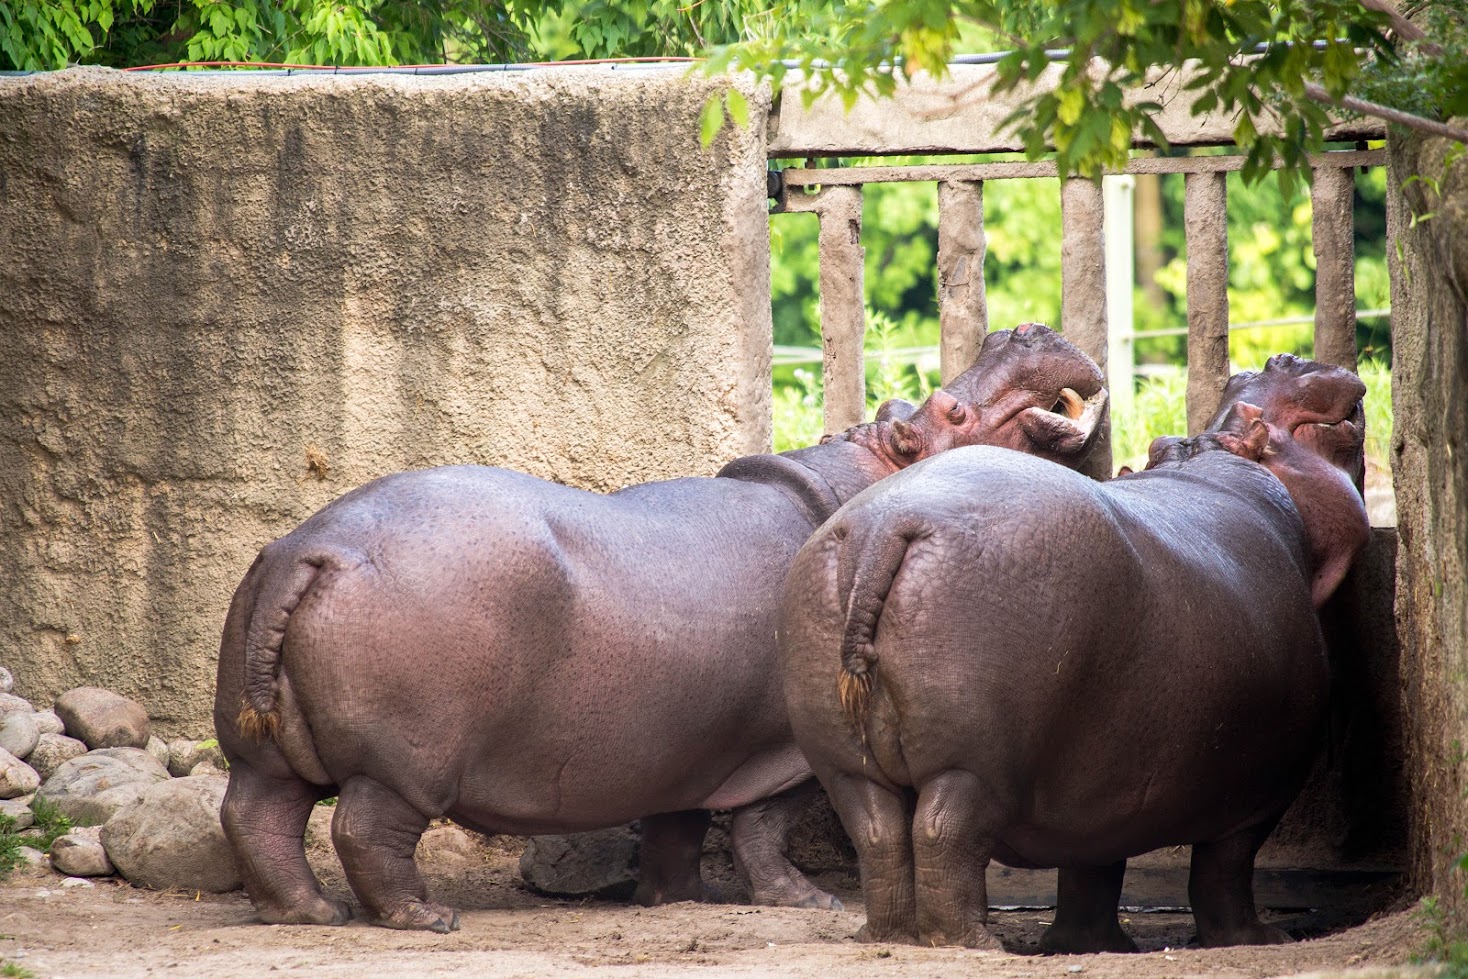
<path id="1" fill-rule="evenodd" d="M 1356 368 L 1355 170 L 1315 170 L 1315 360 Z"/>

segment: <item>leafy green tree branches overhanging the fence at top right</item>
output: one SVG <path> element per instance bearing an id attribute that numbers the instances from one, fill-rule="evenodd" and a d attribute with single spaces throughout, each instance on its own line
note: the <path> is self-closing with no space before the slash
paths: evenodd
<path id="1" fill-rule="evenodd" d="M 1193 112 L 1235 113 L 1245 176 L 1257 179 L 1274 159 L 1293 169 L 1321 148 L 1340 107 L 1468 138 L 1434 125 L 1468 114 L 1468 6 L 1414 7 L 1425 31 L 1390 0 L 837 0 L 816 9 L 777 0 L 757 35 L 718 48 L 709 68 L 775 85 L 799 72 L 813 82 L 807 100 L 834 92 L 850 106 L 894 92 L 916 72 L 944 76 L 964 28 L 981 28 L 1009 48 L 997 63 L 1001 91 L 1060 66 L 1060 84 L 1009 119 L 1029 156 L 1054 147 L 1063 170 L 1095 176 L 1126 161 L 1135 132 L 1166 148 L 1152 120 L 1161 107 L 1126 106 L 1123 94 L 1149 70 L 1188 63 Z M 1270 128 L 1279 135 L 1260 132 Z"/>

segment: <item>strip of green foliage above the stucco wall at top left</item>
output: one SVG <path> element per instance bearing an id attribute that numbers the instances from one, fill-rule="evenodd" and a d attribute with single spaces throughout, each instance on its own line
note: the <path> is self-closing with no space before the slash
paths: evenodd
<path id="1" fill-rule="evenodd" d="M 750 0 L 0 0 L 0 69 L 690 56 L 737 40 L 759 12 Z M 743 125 L 737 98 L 728 112 Z"/>

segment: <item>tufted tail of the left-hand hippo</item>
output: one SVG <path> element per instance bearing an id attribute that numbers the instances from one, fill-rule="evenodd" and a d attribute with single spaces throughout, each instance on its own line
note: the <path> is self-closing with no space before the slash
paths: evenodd
<path id="1" fill-rule="evenodd" d="M 341 555 L 332 550 L 311 550 L 288 552 L 288 567 L 272 567 L 269 550 L 261 553 L 261 584 L 245 627 L 244 690 L 235 721 L 239 732 L 254 741 L 275 738 L 280 729 L 280 650 L 291 614 L 323 569 L 342 565 Z"/>

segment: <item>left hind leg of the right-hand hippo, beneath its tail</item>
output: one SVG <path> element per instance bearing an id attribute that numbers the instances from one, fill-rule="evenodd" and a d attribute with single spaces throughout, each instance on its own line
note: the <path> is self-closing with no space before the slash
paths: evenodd
<path id="1" fill-rule="evenodd" d="M 913 900 L 912 793 L 862 775 L 822 779 L 862 867 L 866 925 L 862 942 L 916 942 L 918 906 Z"/>

